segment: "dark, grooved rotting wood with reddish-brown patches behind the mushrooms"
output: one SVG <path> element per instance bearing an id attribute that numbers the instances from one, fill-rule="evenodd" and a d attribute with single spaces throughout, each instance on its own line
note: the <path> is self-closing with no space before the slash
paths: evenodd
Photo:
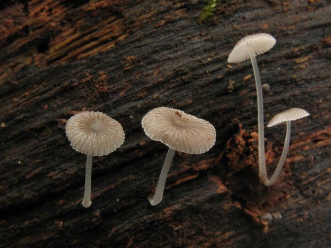
<path id="1" fill-rule="evenodd" d="M 225 0 L 199 23 L 198 0 L 0 1 L 0 247 L 330 247 L 331 3 Z M 235 43 L 267 32 L 258 57 L 265 122 L 291 107 L 276 184 L 257 171 L 250 62 L 227 64 Z M 231 85 L 233 84 L 233 87 Z M 211 122 L 215 146 L 175 155 L 163 201 L 147 196 L 167 147 L 141 118 L 168 106 Z M 92 206 L 81 205 L 85 156 L 66 120 L 101 111 L 124 145 L 94 157 Z M 285 125 L 265 129 L 270 172 Z M 271 223 L 265 213 L 280 213 Z"/>

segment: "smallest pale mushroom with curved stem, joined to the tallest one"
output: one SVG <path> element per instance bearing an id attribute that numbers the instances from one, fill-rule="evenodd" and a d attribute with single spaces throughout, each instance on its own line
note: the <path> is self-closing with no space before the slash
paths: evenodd
<path id="1" fill-rule="evenodd" d="M 277 177 L 279 176 L 281 169 L 283 168 L 287 152 L 288 152 L 288 147 L 290 144 L 290 136 L 291 136 L 291 121 L 295 121 L 301 118 L 304 118 L 306 116 L 309 116 L 309 113 L 303 109 L 299 108 L 292 108 L 288 109 L 284 112 L 276 114 L 267 124 L 267 127 L 274 126 L 283 122 L 286 122 L 286 136 L 285 136 L 285 141 L 284 141 L 284 147 L 283 151 L 280 155 L 279 162 L 277 164 L 276 170 L 274 171 L 273 175 L 271 176 L 270 180 L 267 179 L 267 176 L 262 178 L 263 183 L 265 186 L 270 186 L 273 185 L 274 182 L 276 181 Z M 266 171 L 266 168 L 265 168 Z"/>

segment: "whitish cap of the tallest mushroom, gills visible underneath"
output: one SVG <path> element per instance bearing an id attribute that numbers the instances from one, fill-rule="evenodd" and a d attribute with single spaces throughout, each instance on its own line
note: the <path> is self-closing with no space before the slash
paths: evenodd
<path id="1" fill-rule="evenodd" d="M 258 33 L 245 36 L 234 46 L 229 55 L 228 62 L 240 63 L 250 59 L 248 48 L 253 50 L 255 56 L 258 56 L 269 51 L 274 44 L 276 44 L 276 39 L 270 34 Z"/>

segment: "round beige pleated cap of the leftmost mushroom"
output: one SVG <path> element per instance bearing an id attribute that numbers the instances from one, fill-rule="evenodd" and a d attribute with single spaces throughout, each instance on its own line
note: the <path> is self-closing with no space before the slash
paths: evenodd
<path id="1" fill-rule="evenodd" d="M 125 134 L 122 125 L 106 114 L 84 111 L 67 121 L 66 137 L 76 151 L 104 156 L 123 144 Z"/>

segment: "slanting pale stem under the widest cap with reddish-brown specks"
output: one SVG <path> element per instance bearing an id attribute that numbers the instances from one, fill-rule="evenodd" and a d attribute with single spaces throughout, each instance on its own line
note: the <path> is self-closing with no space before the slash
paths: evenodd
<path id="1" fill-rule="evenodd" d="M 149 203 L 152 206 L 159 204 L 162 200 L 165 182 L 167 180 L 167 175 L 171 166 L 172 159 L 175 155 L 175 151 L 176 150 L 169 147 L 167 156 L 164 160 L 164 164 L 161 170 L 159 181 L 157 182 L 155 194 L 154 196 L 148 196 Z"/>

